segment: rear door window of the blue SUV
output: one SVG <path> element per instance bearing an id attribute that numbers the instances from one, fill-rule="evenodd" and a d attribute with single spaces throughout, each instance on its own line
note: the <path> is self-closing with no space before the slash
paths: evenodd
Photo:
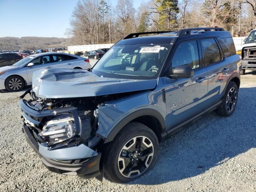
<path id="1" fill-rule="evenodd" d="M 201 44 L 206 66 L 220 61 L 220 50 L 214 39 L 202 39 Z"/>

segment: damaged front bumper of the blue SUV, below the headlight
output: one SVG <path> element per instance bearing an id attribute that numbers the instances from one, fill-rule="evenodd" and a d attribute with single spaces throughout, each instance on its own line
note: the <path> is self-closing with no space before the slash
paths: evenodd
<path id="1" fill-rule="evenodd" d="M 34 136 L 32 135 L 28 126 L 26 126 L 26 124 L 23 125 L 23 132 L 25 134 L 28 144 L 40 156 L 43 165 L 48 168 L 48 170 L 59 174 L 78 175 L 82 176 L 83 178 L 92 178 L 101 174 L 101 153 L 97 153 L 94 151 L 94 154 L 92 154 L 92 156 L 88 156 L 88 154 L 93 150 L 85 145 L 70 148 L 61 148 L 51 151 L 42 150 L 44 149 L 44 146 L 40 145 L 35 140 Z M 79 152 L 76 148 L 79 148 Z M 70 154 L 71 151 L 72 153 Z M 55 157 L 52 156 L 53 154 L 55 155 Z M 52 156 L 52 158 L 54 159 L 48 158 L 46 156 Z"/>

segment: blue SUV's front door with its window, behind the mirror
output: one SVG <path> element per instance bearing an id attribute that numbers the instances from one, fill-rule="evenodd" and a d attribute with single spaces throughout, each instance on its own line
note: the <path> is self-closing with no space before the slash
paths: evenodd
<path id="1" fill-rule="evenodd" d="M 172 58 L 172 68 L 188 65 L 194 70 L 191 78 L 164 77 L 169 132 L 182 122 L 203 112 L 206 105 L 208 77 L 201 67 L 197 40 L 181 42 Z"/>

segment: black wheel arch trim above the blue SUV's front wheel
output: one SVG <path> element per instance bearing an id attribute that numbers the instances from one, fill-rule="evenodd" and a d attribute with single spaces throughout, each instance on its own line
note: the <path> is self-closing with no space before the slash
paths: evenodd
<path id="1" fill-rule="evenodd" d="M 154 118 L 156 118 L 161 125 L 161 130 L 160 130 L 160 134 L 161 136 L 165 136 L 166 133 L 166 122 L 164 120 L 164 117 L 160 114 L 160 112 L 158 112 L 157 110 L 154 109 L 141 109 L 138 110 L 136 112 L 133 112 L 132 114 L 129 114 L 128 116 L 126 116 L 125 118 L 123 118 L 112 130 L 111 132 L 108 134 L 108 136 L 106 137 L 106 139 L 104 140 L 104 143 L 108 143 L 111 142 L 112 140 L 114 140 L 114 138 L 116 137 L 116 135 L 118 134 L 118 132 L 120 132 L 120 130 L 129 122 L 131 122 L 132 120 L 141 117 L 141 116 L 153 116 Z"/>

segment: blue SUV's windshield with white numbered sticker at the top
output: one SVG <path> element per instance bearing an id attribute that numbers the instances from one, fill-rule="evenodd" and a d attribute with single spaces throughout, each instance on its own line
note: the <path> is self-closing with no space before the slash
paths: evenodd
<path id="1" fill-rule="evenodd" d="M 157 78 L 170 44 L 116 45 L 93 67 L 98 76 L 126 79 Z"/>

